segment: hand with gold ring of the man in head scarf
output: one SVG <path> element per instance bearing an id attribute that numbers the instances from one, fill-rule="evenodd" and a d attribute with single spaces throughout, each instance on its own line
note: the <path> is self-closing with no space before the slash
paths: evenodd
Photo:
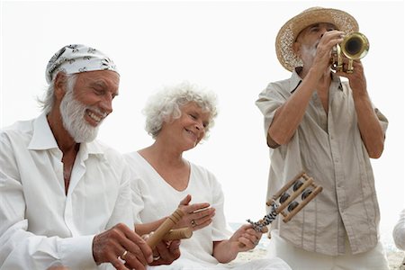
<path id="1" fill-rule="evenodd" d="M 111 263 L 116 269 L 144 270 L 153 262 L 148 244 L 121 223 L 94 237 L 93 257 L 97 265 Z"/>

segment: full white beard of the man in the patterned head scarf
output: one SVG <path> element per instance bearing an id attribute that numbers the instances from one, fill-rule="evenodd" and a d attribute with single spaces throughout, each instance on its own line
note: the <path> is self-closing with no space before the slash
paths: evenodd
<path id="1" fill-rule="evenodd" d="M 90 142 L 97 137 L 98 127 L 93 127 L 85 121 L 85 110 L 90 108 L 83 103 L 76 101 L 72 89 L 67 93 L 60 103 L 60 114 L 62 115 L 63 126 L 76 142 Z M 94 110 L 98 112 L 99 110 Z"/>

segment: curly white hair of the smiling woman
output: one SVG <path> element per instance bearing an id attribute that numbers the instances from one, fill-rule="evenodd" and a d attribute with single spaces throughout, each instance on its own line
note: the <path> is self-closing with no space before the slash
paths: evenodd
<path id="1" fill-rule="evenodd" d="M 214 124 L 214 118 L 218 114 L 217 98 L 212 92 L 205 91 L 189 82 L 166 86 L 157 94 L 149 97 L 142 111 L 146 116 L 145 130 L 153 139 L 156 139 L 157 134 L 162 129 L 163 122 L 180 118 L 182 113 L 180 110 L 187 103 L 196 103 L 202 108 L 202 112 L 210 113 L 210 121 L 205 131 L 206 138 L 208 131 Z"/>

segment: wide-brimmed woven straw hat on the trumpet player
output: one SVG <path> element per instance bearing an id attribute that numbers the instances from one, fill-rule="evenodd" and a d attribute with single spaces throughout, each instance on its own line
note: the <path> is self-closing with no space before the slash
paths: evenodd
<path id="1" fill-rule="evenodd" d="M 344 11 L 319 6 L 304 10 L 285 23 L 275 39 L 277 58 L 287 70 L 302 66 L 302 60 L 293 51 L 293 43 L 302 30 L 314 23 L 332 23 L 346 33 L 358 31 L 356 19 Z"/>

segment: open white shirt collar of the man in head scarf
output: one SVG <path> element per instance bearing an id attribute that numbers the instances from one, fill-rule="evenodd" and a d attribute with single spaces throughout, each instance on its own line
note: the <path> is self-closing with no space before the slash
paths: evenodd
<path id="1" fill-rule="evenodd" d="M 32 138 L 28 149 L 47 150 L 52 148 L 58 148 L 58 143 L 53 136 L 52 130 L 50 130 L 47 115 L 43 112 L 33 123 Z M 96 140 L 81 143 L 80 152 L 82 157 L 85 157 L 84 159 L 91 154 L 103 156 L 104 153 L 103 147 Z"/>

